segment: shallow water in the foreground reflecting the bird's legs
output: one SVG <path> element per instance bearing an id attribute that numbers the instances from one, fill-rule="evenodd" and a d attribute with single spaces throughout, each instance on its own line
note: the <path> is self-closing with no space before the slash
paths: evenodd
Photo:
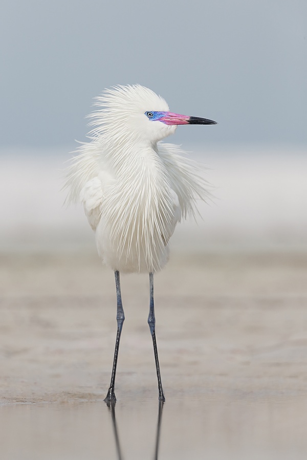
<path id="1" fill-rule="evenodd" d="M 191 395 L 118 401 L 1 406 L 2 458 L 200 460 L 306 458 L 307 398 Z M 156 456 L 156 454 L 158 456 Z"/>

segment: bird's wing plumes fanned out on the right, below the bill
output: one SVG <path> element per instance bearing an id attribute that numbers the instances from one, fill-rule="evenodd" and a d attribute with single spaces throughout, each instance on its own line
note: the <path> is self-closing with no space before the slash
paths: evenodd
<path id="1" fill-rule="evenodd" d="M 181 217 L 188 214 L 195 217 L 197 211 L 196 200 L 210 199 L 210 184 L 203 178 L 204 166 L 186 157 L 186 152 L 178 145 L 158 143 L 158 154 L 162 159 L 170 181 L 171 188 L 176 193 Z"/>

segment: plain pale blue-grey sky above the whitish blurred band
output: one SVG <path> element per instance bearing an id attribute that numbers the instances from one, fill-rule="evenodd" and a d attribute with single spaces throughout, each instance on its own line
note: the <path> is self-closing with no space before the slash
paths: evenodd
<path id="1" fill-rule="evenodd" d="M 2 148 L 73 146 L 125 83 L 218 121 L 177 143 L 307 144 L 305 0 L 3 0 L 0 49 Z"/>

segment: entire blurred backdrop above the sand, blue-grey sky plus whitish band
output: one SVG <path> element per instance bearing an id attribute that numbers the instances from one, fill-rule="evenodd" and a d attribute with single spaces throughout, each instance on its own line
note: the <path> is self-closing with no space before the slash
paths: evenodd
<path id="1" fill-rule="evenodd" d="M 306 249 L 306 24 L 304 0 L 4 0 L 0 250 L 95 251 L 62 170 L 93 98 L 126 83 L 218 121 L 169 139 L 208 166 L 215 197 L 175 251 Z"/>

